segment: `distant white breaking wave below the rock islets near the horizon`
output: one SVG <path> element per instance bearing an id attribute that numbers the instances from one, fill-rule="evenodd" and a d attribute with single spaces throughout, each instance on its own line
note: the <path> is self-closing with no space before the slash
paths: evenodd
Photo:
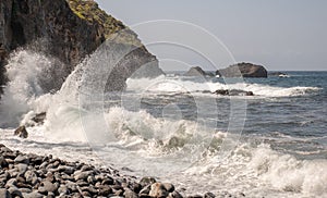
<path id="1" fill-rule="evenodd" d="M 198 92 L 216 91 L 219 89 L 252 91 L 255 96 L 263 97 L 291 97 L 307 95 L 320 90 L 318 87 L 272 87 L 261 84 L 235 83 L 222 84 L 202 81 L 201 83 L 180 77 L 160 76 L 155 79 L 128 79 L 128 90 L 143 92 Z"/>

